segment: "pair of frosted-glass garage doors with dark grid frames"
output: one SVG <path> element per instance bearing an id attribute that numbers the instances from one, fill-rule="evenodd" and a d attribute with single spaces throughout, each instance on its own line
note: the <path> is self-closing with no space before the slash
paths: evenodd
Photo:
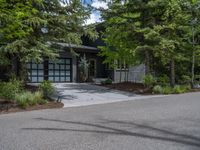
<path id="1" fill-rule="evenodd" d="M 27 64 L 28 79 L 30 82 L 52 82 L 72 81 L 72 60 L 71 58 L 60 58 L 55 62 L 44 61 L 42 63 L 30 62 Z"/>

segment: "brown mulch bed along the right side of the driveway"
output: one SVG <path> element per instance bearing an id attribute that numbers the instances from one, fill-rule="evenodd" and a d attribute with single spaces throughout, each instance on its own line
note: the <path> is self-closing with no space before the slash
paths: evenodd
<path id="1" fill-rule="evenodd" d="M 123 82 L 123 83 L 114 83 L 101 86 L 120 91 L 133 92 L 136 94 L 152 95 L 152 90 L 147 89 L 142 83 Z"/>

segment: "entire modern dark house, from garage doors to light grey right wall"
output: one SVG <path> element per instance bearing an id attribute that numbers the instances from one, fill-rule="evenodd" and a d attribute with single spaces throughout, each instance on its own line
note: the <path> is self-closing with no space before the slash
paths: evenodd
<path id="1" fill-rule="evenodd" d="M 101 26 L 97 26 L 97 31 L 101 30 Z M 140 65 L 132 68 L 124 68 L 120 70 L 110 69 L 106 64 L 103 64 L 104 58 L 99 56 L 100 49 L 98 46 L 105 45 L 99 38 L 96 41 L 91 41 L 87 37 L 82 38 L 83 44 L 81 46 L 72 45 L 67 43 L 56 43 L 56 47 L 59 49 L 59 57 L 57 61 L 44 59 L 42 63 L 29 62 L 27 63 L 28 80 L 29 82 L 42 82 L 43 80 L 49 80 L 52 82 L 80 82 L 80 58 L 85 56 L 88 63 L 88 79 L 100 80 L 111 78 L 113 82 L 125 81 L 125 77 L 128 76 L 128 81 L 142 82 L 142 78 L 145 73 L 145 66 Z M 71 52 L 71 48 L 78 55 L 74 55 Z M 0 78 L 3 78 L 3 72 Z"/>

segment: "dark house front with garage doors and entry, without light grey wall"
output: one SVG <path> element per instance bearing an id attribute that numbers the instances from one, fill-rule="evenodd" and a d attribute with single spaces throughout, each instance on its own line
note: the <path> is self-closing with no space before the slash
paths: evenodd
<path id="1" fill-rule="evenodd" d="M 90 46 L 69 45 L 57 43 L 59 57 L 55 61 L 44 59 L 41 63 L 29 62 L 28 82 L 81 82 L 79 63 L 80 58 L 86 57 L 88 68 L 88 79 L 107 78 L 107 71 L 103 64 L 103 58 L 98 56 L 99 49 Z M 71 52 L 71 49 L 76 53 Z"/>

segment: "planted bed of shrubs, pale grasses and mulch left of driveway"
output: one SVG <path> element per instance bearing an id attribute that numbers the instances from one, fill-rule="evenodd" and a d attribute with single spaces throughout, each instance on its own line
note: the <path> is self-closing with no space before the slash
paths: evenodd
<path id="1" fill-rule="evenodd" d="M 62 108 L 61 102 L 50 99 L 55 92 L 49 81 L 39 86 L 25 85 L 16 79 L 0 83 L 0 114 L 38 109 Z"/>

